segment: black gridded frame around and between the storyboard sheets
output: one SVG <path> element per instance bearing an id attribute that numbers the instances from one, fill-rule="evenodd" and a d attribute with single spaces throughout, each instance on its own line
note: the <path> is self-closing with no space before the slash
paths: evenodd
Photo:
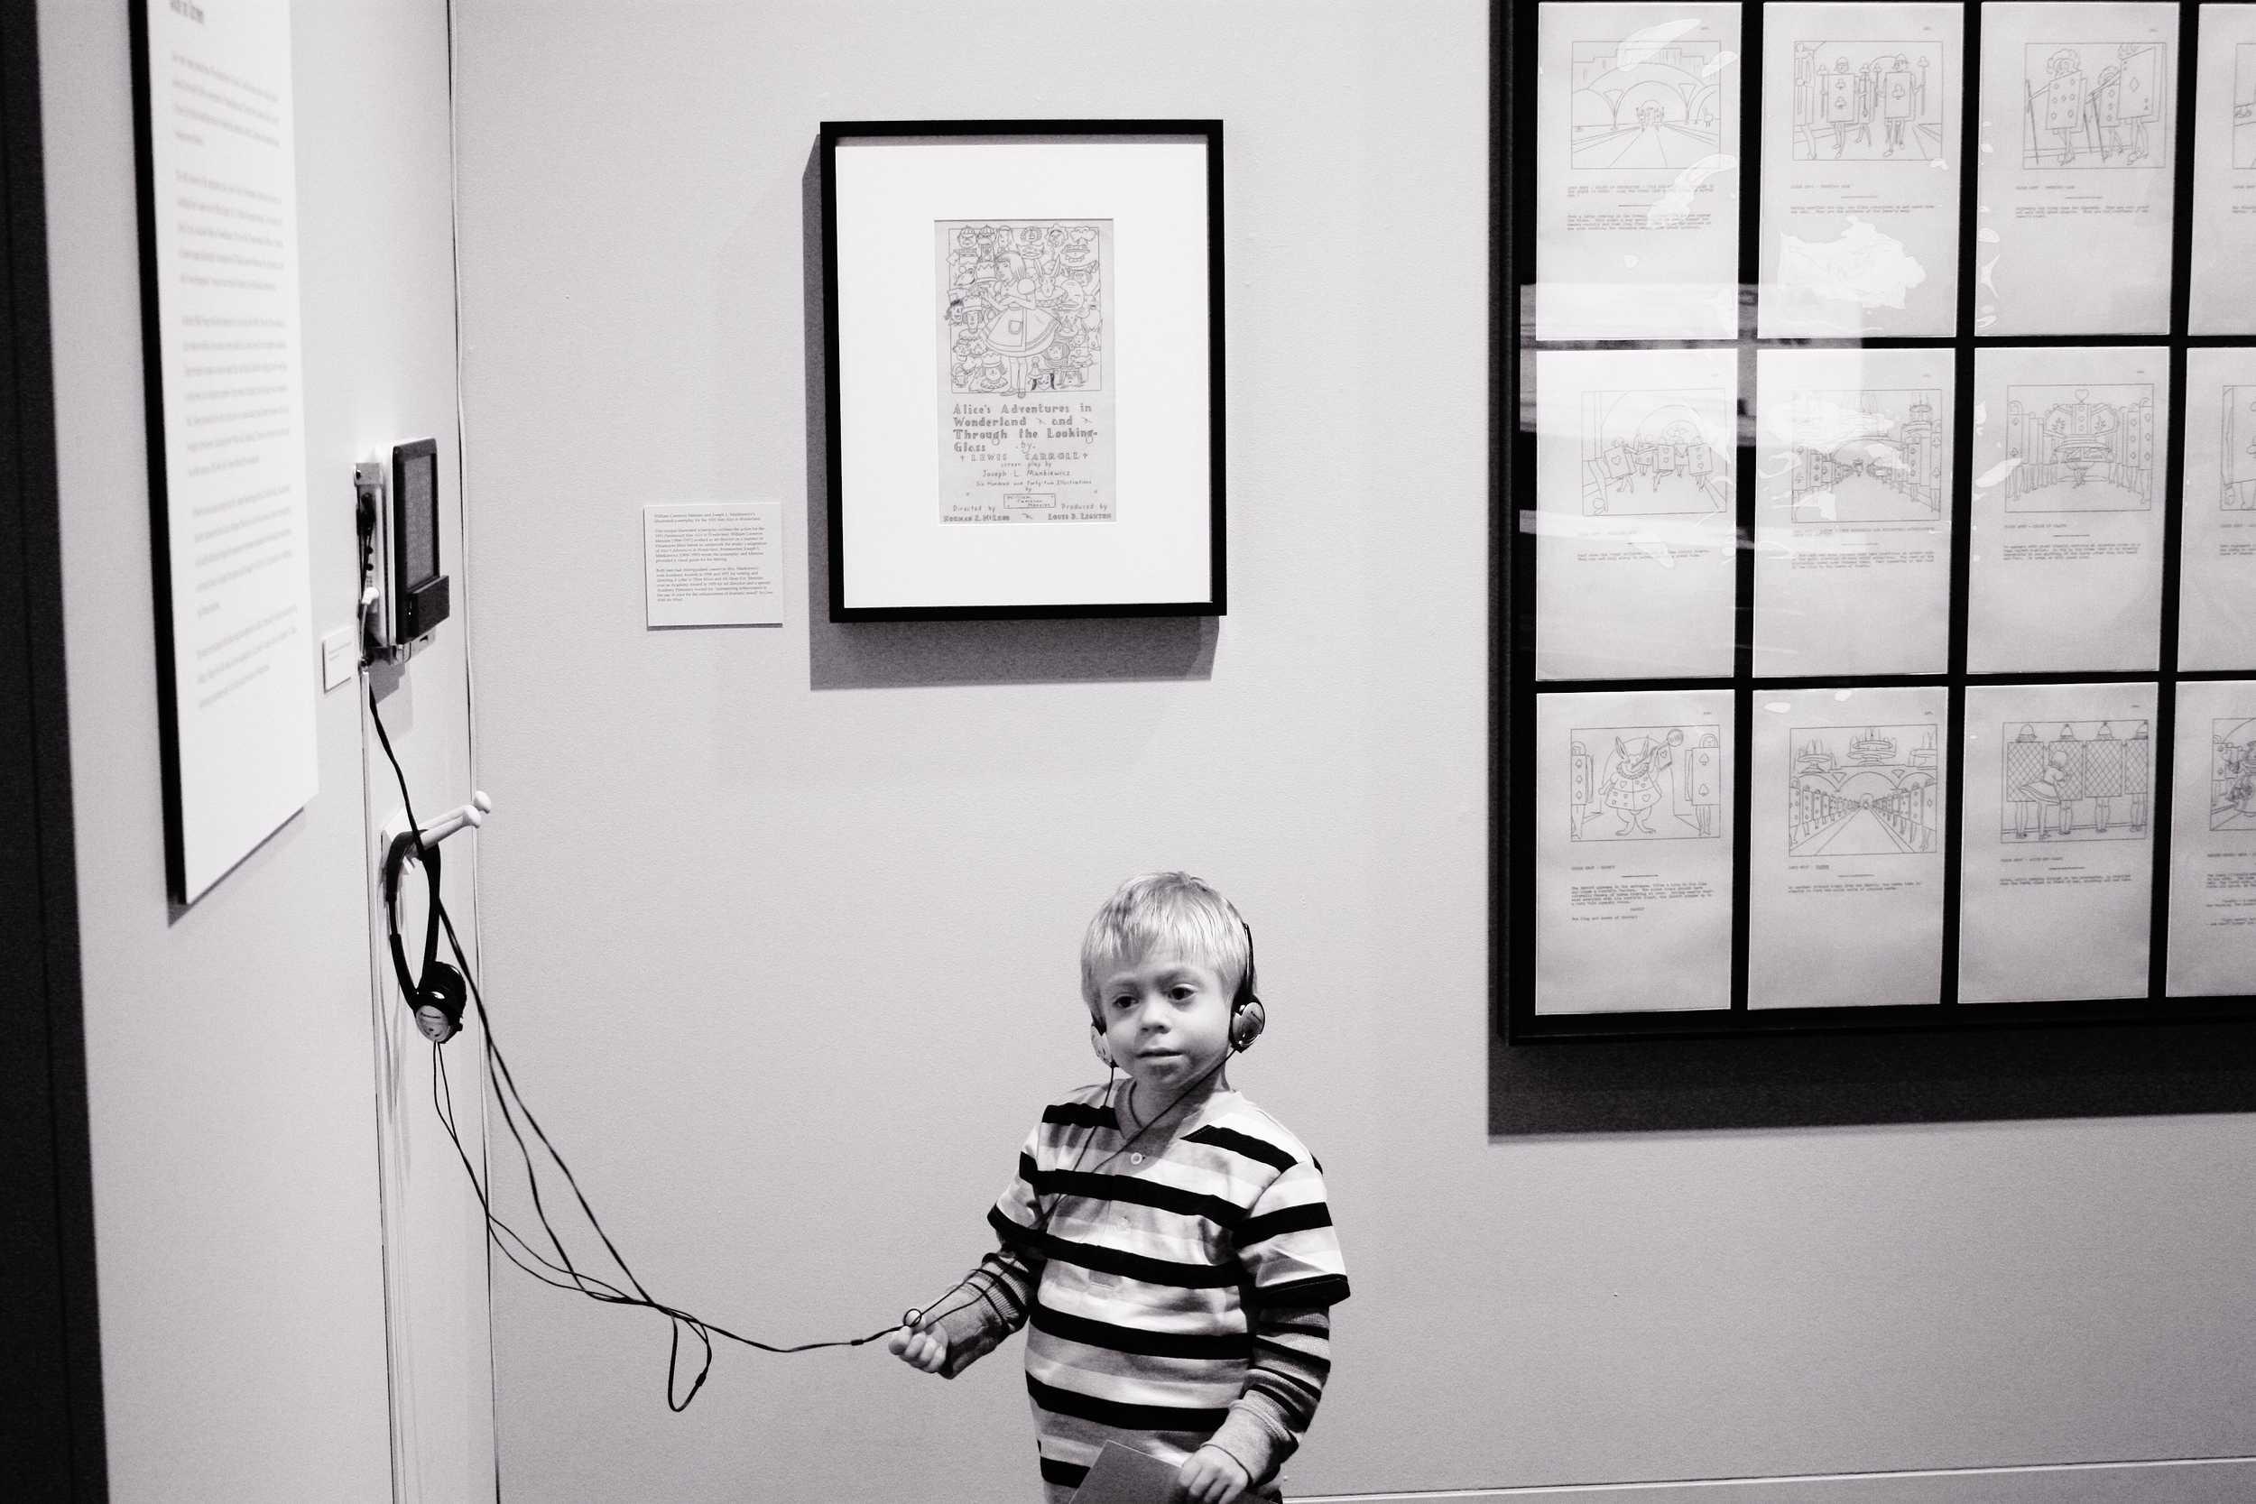
<path id="1" fill-rule="evenodd" d="M 1493 1028 L 1509 1046 L 1548 1046 L 1559 1042 L 1593 1039 L 1721 1039 L 1721 1037 L 1778 1037 L 1778 1035 L 1852 1035 L 1852 1033 L 1929 1033 L 1929 1030 L 2026 1030 L 2042 1026 L 2112 1024 L 2231 1024 L 2256 1021 L 2256 994 L 2231 997 L 2173 997 L 2166 990 L 2168 967 L 2168 902 L 2170 902 L 2170 800 L 2173 800 L 2173 753 L 2175 749 L 2175 688 L 2191 681 L 2256 679 L 2256 665 L 2247 670 L 2188 670 L 2177 667 L 2179 627 L 2179 573 L 2182 573 L 2182 516 L 2179 503 L 2184 480 L 2184 397 L 2186 397 L 2186 352 L 2188 347 L 2256 347 L 2256 336 L 2195 336 L 2188 334 L 2188 289 L 2191 289 L 2191 225 L 2193 225 L 2193 167 L 2195 167 L 2195 70 L 2200 61 L 2200 11 L 2197 2 L 2179 2 L 2177 9 L 2177 72 L 2175 72 L 2175 140 L 2173 158 L 2173 253 L 2170 253 L 2170 329 L 2168 334 L 2076 334 L 2076 336 L 1990 336 L 1976 338 L 1974 298 L 1974 253 L 1976 253 L 1976 198 L 1979 187 L 1972 167 L 1958 180 L 1958 313 L 1951 336 L 1933 338 L 1757 338 L 1755 289 L 1760 284 L 1760 212 L 1757 192 L 1762 171 L 1762 14 L 1766 0 L 1744 0 L 1742 18 L 1742 104 L 1737 174 L 1739 192 L 1739 322 L 1730 340 L 1701 340 L 1703 347 L 1737 350 L 1739 356 L 1739 413 L 1737 413 L 1737 570 L 1735 570 L 1735 665 L 1728 679 L 1609 679 L 1609 681 L 1543 681 L 1541 692 L 1572 695 L 1577 690 L 1651 690 L 1651 688 L 1726 688 L 1735 706 L 1735 769 L 1733 769 L 1733 936 L 1730 936 L 1730 1006 L 1699 1012 L 1572 1012 L 1545 1015 L 1536 1010 L 1536 422 L 1532 370 L 1534 354 L 1552 343 L 1539 343 L 1534 331 L 1534 275 L 1536 275 L 1536 27 L 1539 5 L 1496 7 L 1491 11 L 1491 244 L 1493 244 L 1493 392 L 1496 410 L 1491 453 L 1491 1003 Z M 1979 59 L 1981 59 L 1981 0 L 1960 0 L 1963 11 L 1963 56 L 1965 83 L 1963 108 L 1958 110 L 1958 160 L 1979 160 L 1979 110 L 1974 108 Z M 1651 347 L 1683 345 L 1685 340 L 1651 340 Z M 1572 343 L 1566 343 L 1572 345 Z M 1640 343 L 1624 343 L 1638 347 Z M 1956 444 L 1951 451 L 1951 505 L 1965 505 L 1972 483 L 1969 408 L 1974 401 L 1974 354 L 1976 347 L 2066 347 L 2066 345 L 2148 345 L 2164 347 L 2170 359 L 2170 431 L 2164 494 L 2166 532 L 2161 559 L 2161 643 L 2152 672 L 2015 672 L 2015 674 L 1969 674 L 1967 672 L 1967 570 L 1969 528 L 1951 530 L 1951 622 L 1949 622 L 1949 667 L 1940 674 L 1868 674 L 1825 679 L 1757 676 L 1753 672 L 1753 580 L 1755 559 L 1751 539 L 1755 534 L 1755 408 L 1753 408 L 1753 363 L 1757 350 L 1771 347 L 1936 347 L 1954 356 L 1956 370 Z M 1990 683 L 2152 683 L 2157 688 L 2157 755 L 2152 791 L 2152 841 L 2150 866 L 2150 920 L 2148 920 L 2148 990 L 2139 997 L 2087 999 L 2087 1001 L 1958 1001 L 1958 915 L 1960 915 L 1960 839 L 1963 839 L 1963 769 L 1965 753 L 1965 699 L 1967 688 Z M 1753 778 L 1753 755 L 1748 722 L 1753 699 L 1760 690 L 1818 688 L 1818 685 L 1931 685 L 1949 695 L 1949 726 L 1945 733 L 1947 758 L 1947 812 L 1942 834 L 1947 841 L 1942 859 L 1942 949 L 1940 949 L 1940 1001 L 1906 1006 L 1839 1006 L 1839 1008 L 1748 1008 L 1748 839 L 1753 821 L 1746 819 Z M 2249 979 L 2256 988 L 2256 976 Z"/>

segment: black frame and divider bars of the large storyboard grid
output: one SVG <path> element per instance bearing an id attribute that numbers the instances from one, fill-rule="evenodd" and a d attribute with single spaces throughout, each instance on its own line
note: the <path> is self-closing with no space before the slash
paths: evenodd
<path id="1" fill-rule="evenodd" d="M 2012 347 L 2012 345 L 2139 345 L 2139 347 L 2161 347 L 2170 356 L 2173 368 L 2173 399 L 2170 399 L 2170 433 L 2166 435 L 2166 455 L 2173 480 L 2179 478 L 2182 449 L 2184 449 L 2184 352 L 2193 345 L 2256 345 L 2256 336 L 2191 336 L 2186 331 L 2186 307 L 2188 307 L 2188 264 L 2191 264 L 2191 223 L 2193 223 L 2193 110 L 2195 110 L 2195 79 L 2200 65 L 2200 2 L 2179 0 L 2177 2 L 2177 65 L 2173 70 L 2173 86 L 2179 90 L 2173 101 L 2177 117 L 2177 133 L 2173 149 L 2177 156 L 2170 162 L 2173 171 L 2173 289 L 2170 289 L 2170 329 L 2161 334 L 2073 334 L 2073 336 L 1979 336 L 1974 327 L 1976 313 L 1976 266 L 1974 266 L 1974 230 L 1976 225 L 1976 162 L 1979 153 L 1979 74 L 1981 74 L 1981 0 L 1960 0 L 1960 56 L 1963 56 L 1963 88 L 1958 104 L 1960 122 L 1960 176 L 1958 176 L 1958 221 L 1960 221 L 1960 266 L 1958 266 L 1958 327 L 1951 336 L 1920 336 L 1920 338 L 1870 338 L 1870 340 L 1760 340 L 1755 338 L 1753 309 L 1746 307 L 1753 300 L 1753 289 L 1746 286 L 1748 277 L 1742 275 L 1742 329 L 1739 350 L 1742 359 L 1753 350 L 1762 347 L 1933 347 L 1954 352 L 1956 377 L 1954 377 L 1954 528 L 1951 528 L 1951 636 L 1949 636 L 1949 667 L 1945 674 L 1882 674 L 1882 676 L 1825 676 L 1823 681 L 1812 679 L 1812 685 L 1852 685 L 1852 683 L 1942 683 L 1949 690 L 1949 746 L 1954 773 L 1947 782 L 1947 812 L 1945 812 L 1945 839 L 1949 841 L 1945 855 L 1945 936 L 1942 936 L 1942 992 L 1940 1006 L 1918 1003 L 1918 1006 L 1882 1006 L 1882 1008 L 1746 1008 L 1746 979 L 1744 979 L 1744 943 L 1746 943 L 1746 873 L 1744 861 L 1735 864 L 1735 895 L 1733 895 L 1733 1006 L 1730 1010 L 1699 1010 L 1699 1012 L 1615 1012 L 1615 1015 L 1539 1015 L 1534 1012 L 1534 956 L 1532 936 L 1525 934 L 1525 920 L 1534 913 L 1534 855 L 1509 846 L 1509 830 L 1514 825 L 1527 828 L 1532 814 L 1532 778 L 1516 773 L 1514 769 L 1532 769 L 1534 746 L 1532 746 L 1532 722 L 1534 704 L 1539 695 L 1550 692 L 1575 692 L 1584 688 L 1606 688 L 1606 690 L 1631 690 L 1631 688 L 1656 688 L 1660 681 L 1604 681 L 1604 683 L 1568 683 L 1568 681 L 1534 681 L 1532 663 L 1532 604 L 1539 589 L 1532 573 L 1532 539 L 1518 525 L 1523 503 L 1532 505 L 1532 483 L 1534 483 L 1534 437 L 1532 424 L 1518 413 L 1523 401 L 1523 383 L 1527 379 L 1525 359 L 1539 347 L 1530 329 L 1530 298 L 1534 280 L 1534 232 L 1532 232 L 1532 192 L 1534 174 L 1532 169 L 1516 169 L 1514 162 L 1525 156 L 1532 142 L 1534 124 L 1534 88 L 1525 86 L 1521 74 L 1532 77 L 1532 59 L 1539 36 L 1539 5 L 1521 5 L 1509 14 L 1505 23 L 1502 7 L 1491 9 L 1491 194 L 1502 203 L 1493 205 L 1491 214 L 1491 304 L 1496 304 L 1496 316 L 1491 318 L 1491 338 L 1498 347 L 1491 350 L 1491 379 L 1507 392 L 1500 401 L 1509 401 L 1509 410 L 1498 408 L 1491 419 L 1491 431 L 1496 444 L 1509 444 L 1509 460 L 1498 467 L 1496 455 L 1491 455 L 1491 474 L 1498 476 L 1496 485 L 1502 489 L 1491 501 L 1491 525 L 1505 537 L 1491 539 L 1491 936 L 1496 943 L 1507 947 L 1507 954 L 1491 958 L 1491 1015 L 1496 1019 L 1498 1033 L 1507 1044 L 1552 1044 L 1566 1039 L 1728 1039 L 1728 1037 L 1778 1037 L 1778 1035 L 1809 1035 L 1809 1037 L 1841 1037 L 1841 1035 L 1872 1035 L 1872 1033 L 1900 1033 L 1900 1035 L 1936 1035 L 1936 1033 L 1992 1033 L 2012 1028 L 2035 1028 L 2035 1026 L 2096 1026 L 2103 1035 L 2123 1028 L 2150 1028 L 2150 1030 L 2177 1030 L 2186 1024 L 2227 1026 L 2242 1028 L 2251 1042 L 2256 1042 L 2256 994 L 2242 997 L 2168 997 L 2164 990 L 2166 972 L 2164 958 L 2168 949 L 2168 882 L 2170 882 L 2170 852 L 2166 846 L 2168 834 L 2168 809 L 2164 800 L 2170 791 L 2170 773 L 2175 758 L 2175 737 L 2170 735 L 2170 708 L 2175 699 L 2175 683 L 2179 679 L 2251 679 L 2256 672 L 2179 672 L 2175 667 L 2177 649 L 2177 580 L 2182 561 L 2177 557 L 2179 548 L 2179 503 L 2177 485 L 2168 485 L 2166 496 L 2166 537 L 2164 537 L 2164 622 L 2161 622 L 2161 656 L 2154 670 L 2141 672 L 2076 672 L 2076 674 L 1969 674 L 1965 672 L 1965 640 L 1967 640 L 1967 550 L 1969 550 L 1969 528 L 1965 514 L 1965 496 L 1972 467 L 1972 444 L 1969 444 L 1969 413 L 1976 397 L 1976 350 L 1990 347 Z M 1742 14 L 1742 59 L 1755 56 L 1760 47 L 1753 45 L 1762 36 L 1762 11 L 1764 0 L 1746 0 L 1739 7 Z M 1755 104 L 1751 106 L 1748 99 Z M 1509 122 L 1509 124 L 1507 124 Z M 1514 133 L 1518 140 L 1514 147 Z M 1751 65 L 1742 81 L 1742 135 L 1760 147 L 1760 63 Z M 1760 232 L 1760 183 L 1751 180 L 1751 169 L 1755 167 L 1753 153 L 1742 156 L 1742 221 L 1757 221 Z M 1757 244 L 1751 241 L 1742 225 L 1739 259 L 1742 273 L 1744 264 L 1753 264 L 1760 255 Z M 1633 347 L 1715 347 L 1715 340 L 1638 340 Z M 1554 347 L 1579 347 L 1577 343 L 1541 343 L 1541 350 Z M 1604 347 L 1618 347 L 1606 343 Z M 1507 370 L 1509 361 L 1509 370 Z M 1744 372 L 1742 372 L 1744 377 Z M 1748 422 L 1746 404 L 1753 401 L 1753 390 L 1742 379 L 1742 424 Z M 1507 424 L 1512 424 L 1507 428 Z M 1742 428 L 1742 440 L 1746 440 Z M 1742 449 L 1742 460 L 1746 460 Z M 1746 465 L 1742 462 L 1739 485 L 1746 485 Z M 1744 498 L 1742 498 L 1744 510 Z M 1737 611 L 1742 618 L 1751 611 L 1751 582 L 1748 559 L 1744 557 L 1742 539 L 1742 561 L 1739 561 L 1739 600 Z M 1527 618 L 1527 620 L 1521 620 Z M 1742 627 L 1746 622 L 1742 620 Z M 1728 688 L 1737 695 L 1737 701 L 1746 701 L 1751 692 L 1769 688 L 1789 688 L 1798 681 L 1787 679 L 1757 679 L 1748 663 L 1748 638 L 1751 631 L 1742 629 L 1742 640 L 1735 643 L 1737 665 L 1733 679 L 1701 681 L 1690 685 L 1685 681 L 1665 681 L 1667 688 Z M 2033 1003 L 1983 1003 L 1983 1006 L 1960 1006 L 1956 999 L 1956 943 L 1958 943 L 1958 843 L 1963 825 L 1963 708 L 1965 690 L 1981 683 L 2150 683 L 2157 692 L 2157 733 L 2168 749 L 2157 758 L 2154 767 L 2154 864 L 2152 864 L 2152 927 L 2148 934 L 2150 956 L 2152 956 L 2152 985 L 2145 997 L 2130 999 L 2096 999 L 2096 1001 L 2033 1001 Z M 1737 704 L 1735 701 L 1735 704 Z M 1739 704 L 1744 710 L 1744 704 Z M 1742 717 L 1744 719 L 1744 717 Z M 1737 749 L 1737 773 L 1739 782 L 1746 780 L 1748 758 L 1746 744 Z M 1530 785 L 1530 787 L 1521 787 Z M 1744 837 L 1744 800 L 1742 816 L 1735 832 Z M 1516 938 L 1530 940 L 1527 945 L 1514 945 Z M 1527 954 L 1523 954 L 1527 952 Z"/>

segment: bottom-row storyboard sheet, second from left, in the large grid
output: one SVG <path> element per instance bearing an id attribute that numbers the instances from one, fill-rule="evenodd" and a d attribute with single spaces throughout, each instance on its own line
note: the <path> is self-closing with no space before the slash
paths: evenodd
<path id="1" fill-rule="evenodd" d="M 1942 994 L 1949 690 L 1755 692 L 1748 1008 Z"/>

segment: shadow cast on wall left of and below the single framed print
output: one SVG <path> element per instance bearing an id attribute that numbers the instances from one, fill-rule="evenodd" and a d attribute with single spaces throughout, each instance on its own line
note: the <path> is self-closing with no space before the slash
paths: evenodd
<path id="1" fill-rule="evenodd" d="M 817 690 L 941 683 L 1211 679 L 1214 616 L 832 622 L 830 395 L 823 352 L 823 153 L 799 178 L 808 372 L 808 681 Z"/>

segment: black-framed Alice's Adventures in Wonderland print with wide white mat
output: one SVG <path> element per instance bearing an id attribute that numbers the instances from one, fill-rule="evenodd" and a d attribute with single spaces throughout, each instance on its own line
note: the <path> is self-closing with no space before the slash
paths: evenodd
<path id="1" fill-rule="evenodd" d="M 1220 616 L 1223 122 L 826 122 L 830 620 Z"/>

